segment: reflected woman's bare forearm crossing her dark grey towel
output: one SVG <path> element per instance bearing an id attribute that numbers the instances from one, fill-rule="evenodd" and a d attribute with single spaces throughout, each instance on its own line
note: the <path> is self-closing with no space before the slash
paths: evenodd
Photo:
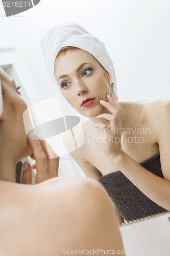
<path id="1" fill-rule="evenodd" d="M 161 207 L 170 210 L 170 181 L 160 178 L 149 172 L 134 161 L 125 152 L 118 158 L 110 158 L 121 172 L 136 186 L 143 194 Z M 169 167 L 170 168 L 170 167 Z"/>

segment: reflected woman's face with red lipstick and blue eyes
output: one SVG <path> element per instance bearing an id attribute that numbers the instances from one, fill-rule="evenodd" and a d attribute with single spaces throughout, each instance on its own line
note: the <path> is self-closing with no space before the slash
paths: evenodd
<path id="1" fill-rule="evenodd" d="M 94 117 L 104 111 L 100 100 L 111 95 L 110 77 L 90 53 L 78 49 L 59 56 L 55 77 L 64 98 L 80 114 Z"/>

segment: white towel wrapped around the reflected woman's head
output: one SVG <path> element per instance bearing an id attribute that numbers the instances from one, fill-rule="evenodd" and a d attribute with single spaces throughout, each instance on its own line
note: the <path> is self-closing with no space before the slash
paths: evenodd
<path id="1" fill-rule="evenodd" d="M 41 38 L 41 50 L 45 63 L 53 82 L 57 81 L 54 75 L 54 63 L 57 53 L 61 48 L 73 46 L 92 54 L 110 74 L 110 84 L 114 83 L 113 91 L 117 96 L 116 76 L 113 62 L 105 48 L 104 43 L 92 36 L 87 30 L 78 24 L 60 24 L 46 31 Z"/>

